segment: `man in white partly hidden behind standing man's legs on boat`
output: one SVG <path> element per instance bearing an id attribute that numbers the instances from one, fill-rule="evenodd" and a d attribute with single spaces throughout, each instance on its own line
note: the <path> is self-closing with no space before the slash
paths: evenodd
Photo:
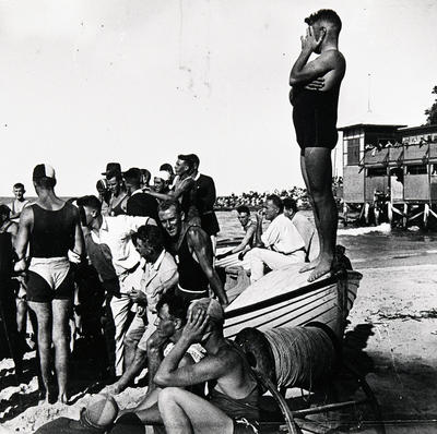
<path id="1" fill-rule="evenodd" d="M 284 216 L 288 217 L 300 233 L 305 243 L 307 262 L 315 260 L 319 255 L 319 236 L 312 221 L 303 212 L 298 210 L 297 203 L 292 197 L 283 201 Z"/>

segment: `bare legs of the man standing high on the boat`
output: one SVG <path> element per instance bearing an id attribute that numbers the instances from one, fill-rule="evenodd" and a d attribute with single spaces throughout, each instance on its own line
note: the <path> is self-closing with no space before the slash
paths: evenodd
<path id="1" fill-rule="evenodd" d="M 300 165 L 320 240 L 319 256 L 303 267 L 300 272 L 312 269 L 308 281 L 314 281 L 331 270 L 334 258 L 339 216 L 332 195 L 331 149 L 306 148 Z"/>

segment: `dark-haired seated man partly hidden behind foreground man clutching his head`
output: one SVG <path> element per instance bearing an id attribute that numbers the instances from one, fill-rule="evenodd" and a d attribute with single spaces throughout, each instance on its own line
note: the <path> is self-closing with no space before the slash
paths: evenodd
<path id="1" fill-rule="evenodd" d="M 170 293 L 164 294 L 157 302 L 157 333 L 147 342 L 149 358 L 154 366 L 160 365 L 180 339 L 185 324 L 187 323 L 188 304 L 177 296 Z M 198 345 L 191 345 L 178 361 L 178 366 L 190 366 L 198 363 L 204 357 L 204 349 Z M 153 371 L 156 372 L 156 369 Z M 153 373 L 150 375 L 153 376 Z M 111 434 L 144 433 L 144 425 L 162 424 L 157 399 L 162 391 L 161 387 L 154 387 L 147 391 L 145 398 L 132 409 L 126 409 L 120 412 Z"/>

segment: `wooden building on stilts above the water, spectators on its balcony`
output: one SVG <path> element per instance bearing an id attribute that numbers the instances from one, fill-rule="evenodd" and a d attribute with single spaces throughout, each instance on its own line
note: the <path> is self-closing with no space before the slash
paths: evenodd
<path id="1" fill-rule="evenodd" d="M 437 219 L 437 124 L 358 123 L 343 133 L 343 213 L 427 227 Z"/>

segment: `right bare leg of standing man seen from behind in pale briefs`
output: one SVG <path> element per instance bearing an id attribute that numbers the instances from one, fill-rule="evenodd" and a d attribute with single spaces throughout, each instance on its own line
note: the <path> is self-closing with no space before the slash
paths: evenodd
<path id="1" fill-rule="evenodd" d="M 58 381 L 58 400 L 67 402 L 69 347 L 69 310 L 70 300 L 54 300 L 52 306 L 52 340 L 55 346 L 55 370 Z"/>

